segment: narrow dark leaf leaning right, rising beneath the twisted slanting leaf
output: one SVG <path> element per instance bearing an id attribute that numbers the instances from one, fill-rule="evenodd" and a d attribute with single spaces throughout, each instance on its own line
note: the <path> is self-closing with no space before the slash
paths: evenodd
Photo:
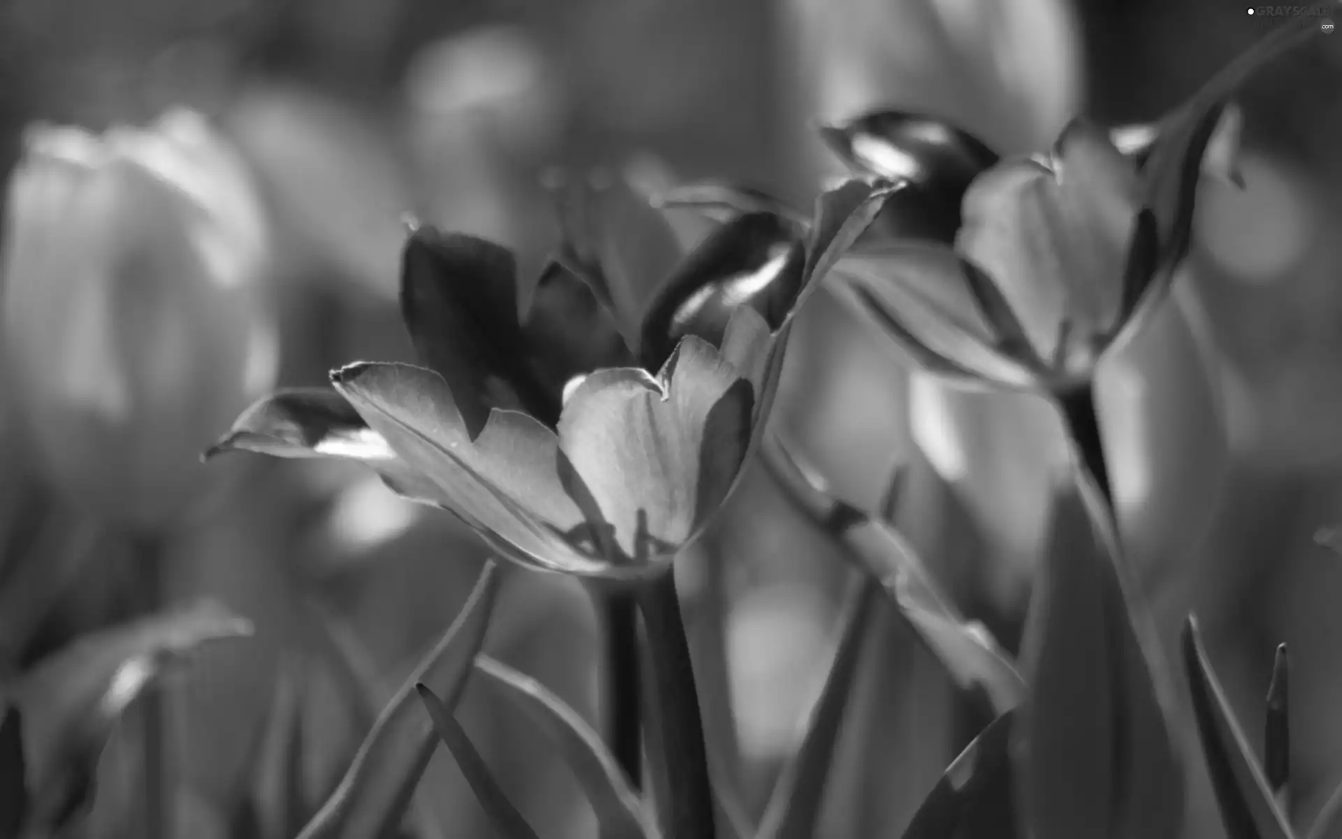
<path id="1" fill-rule="evenodd" d="M 862 575 L 843 609 L 843 631 L 835 647 L 833 663 L 808 718 L 807 733 L 797 753 L 778 775 L 756 834 L 757 839 L 809 839 L 815 835 L 824 805 L 829 764 L 833 761 L 848 697 L 858 675 L 863 642 L 868 635 L 868 619 L 879 596 L 879 584 L 868 575 Z"/>

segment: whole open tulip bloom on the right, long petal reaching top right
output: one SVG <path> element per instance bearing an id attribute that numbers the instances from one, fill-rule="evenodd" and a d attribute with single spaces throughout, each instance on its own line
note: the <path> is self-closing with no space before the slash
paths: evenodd
<path id="1" fill-rule="evenodd" d="M 1279 28 L 1154 126 L 1078 118 L 1045 154 L 998 160 L 968 132 L 899 111 L 824 129 L 855 170 L 907 184 L 835 290 L 953 383 L 1088 387 L 1188 254 L 1200 172 L 1237 177 L 1231 95 L 1304 34 Z"/>

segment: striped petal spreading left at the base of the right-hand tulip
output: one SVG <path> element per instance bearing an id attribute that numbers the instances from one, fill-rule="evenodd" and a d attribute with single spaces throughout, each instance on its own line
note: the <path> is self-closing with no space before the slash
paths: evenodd
<path id="1" fill-rule="evenodd" d="M 848 254 L 831 287 L 849 311 L 931 373 L 962 385 L 1035 387 L 1037 375 L 1002 352 L 972 273 L 977 268 L 950 248 L 910 242 Z"/>

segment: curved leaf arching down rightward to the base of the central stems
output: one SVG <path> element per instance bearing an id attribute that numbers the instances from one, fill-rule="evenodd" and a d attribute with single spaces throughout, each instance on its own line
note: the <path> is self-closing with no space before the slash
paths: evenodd
<path id="1" fill-rule="evenodd" d="M 475 669 L 487 675 L 501 689 L 501 695 L 539 726 L 558 748 L 586 793 L 603 836 L 620 839 L 659 836 L 615 757 L 577 711 L 535 679 L 487 655 L 476 659 Z"/>

